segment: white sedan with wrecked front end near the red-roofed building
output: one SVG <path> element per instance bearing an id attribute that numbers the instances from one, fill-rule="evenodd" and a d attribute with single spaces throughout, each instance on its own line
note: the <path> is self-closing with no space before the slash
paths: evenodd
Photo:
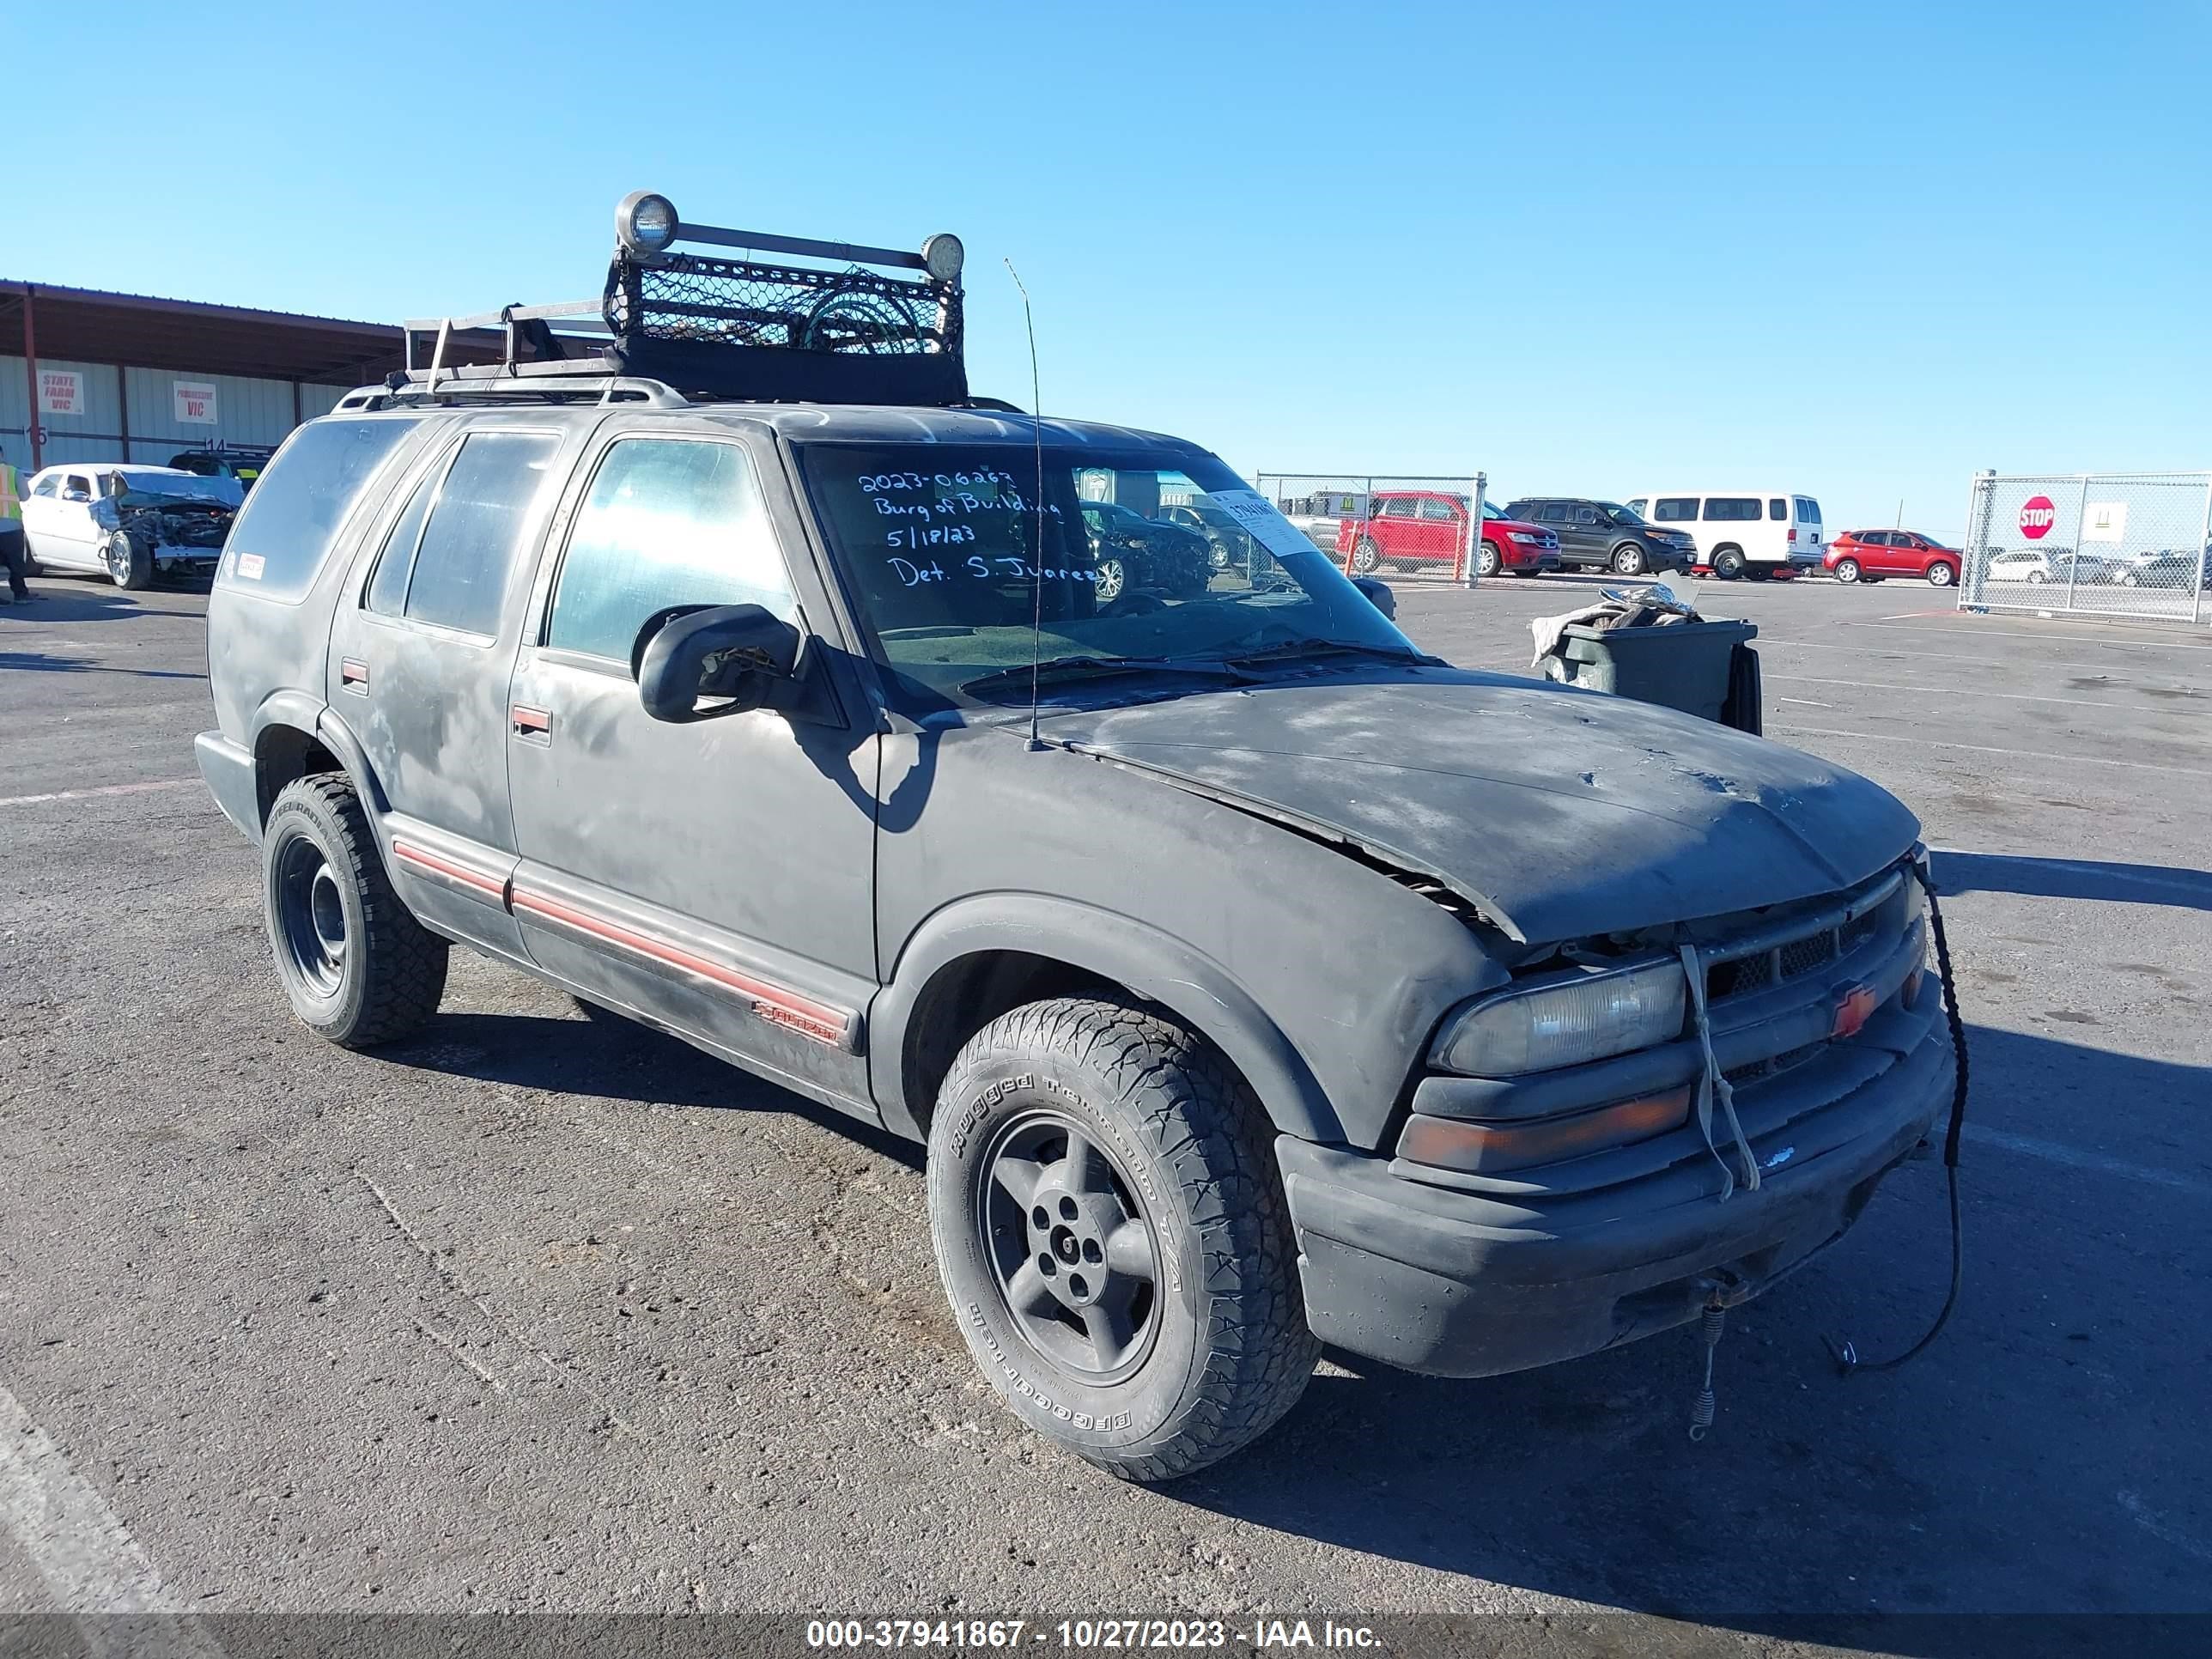
<path id="1" fill-rule="evenodd" d="M 212 575 L 241 500 L 234 478 L 71 460 L 31 478 L 22 538 L 44 571 L 93 571 L 144 588 L 161 571 Z"/>

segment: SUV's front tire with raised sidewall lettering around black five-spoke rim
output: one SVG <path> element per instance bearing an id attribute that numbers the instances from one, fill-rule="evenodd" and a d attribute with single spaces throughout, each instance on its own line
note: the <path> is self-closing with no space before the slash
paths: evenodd
<path id="1" fill-rule="evenodd" d="M 1037 1323 L 1011 1305 L 1004 1267 L 1031 1256 L 1009 1225 L 991 1237 L 991 1206 L 1004 1203 L 998 1148 L 1029 1135 L 1057 1168 L 1057 1126 L 1113 1166 L 1097 1183 L 1108 1208 L 1117 1190 L 1155 1243 L 1148 1336 L 1113 1367 L 1071 1365 L 1040 1345 Z M 1126 1480 L 1172 1480 L 1290 1411 L 1321 1345 L 1305 1325 L 1270 1141 L 1243 1077 L 1157 1011 L 1060 998 L 1013 1009 L 969 1040 L 929 1126 L 929 1223 L 960 1332 L 1024 1420 Z M 1018 1203 L 1015 1223 L 1046 1217 L 1048 1203 Z M 1071 1274 L 1097 1261 L 1088 1243 L 1066 1248 Z"/>

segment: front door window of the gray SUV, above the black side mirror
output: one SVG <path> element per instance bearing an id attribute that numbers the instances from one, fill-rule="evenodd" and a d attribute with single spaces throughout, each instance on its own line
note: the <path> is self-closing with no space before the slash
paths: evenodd
<path id="1" fill-rule="evenodd" d="M 624 438 L 599 462 L 568 533 L 546 646 L 626 664 L 646 617 L 672 604 L 757 604 L 799 617 L 745 451 Z"/>

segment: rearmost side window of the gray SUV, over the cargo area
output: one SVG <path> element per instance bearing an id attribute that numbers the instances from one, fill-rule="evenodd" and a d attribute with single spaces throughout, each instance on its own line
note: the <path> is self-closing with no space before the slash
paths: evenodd
<path id="1" fill-rule="evenodd" d="M 345 515 L 418 420 L 314 420 L 276 451 L 230 526 L 223 582 L 299 599 L 338 540 Z"/>

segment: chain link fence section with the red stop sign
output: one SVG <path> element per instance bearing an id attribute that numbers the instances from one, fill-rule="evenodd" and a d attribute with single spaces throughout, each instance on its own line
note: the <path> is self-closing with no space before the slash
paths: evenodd
<path id="1" fill-rule="evenodd" d="M 2212 473 L 1975 473 L 1958 602 L 2212 622 Z"/>

